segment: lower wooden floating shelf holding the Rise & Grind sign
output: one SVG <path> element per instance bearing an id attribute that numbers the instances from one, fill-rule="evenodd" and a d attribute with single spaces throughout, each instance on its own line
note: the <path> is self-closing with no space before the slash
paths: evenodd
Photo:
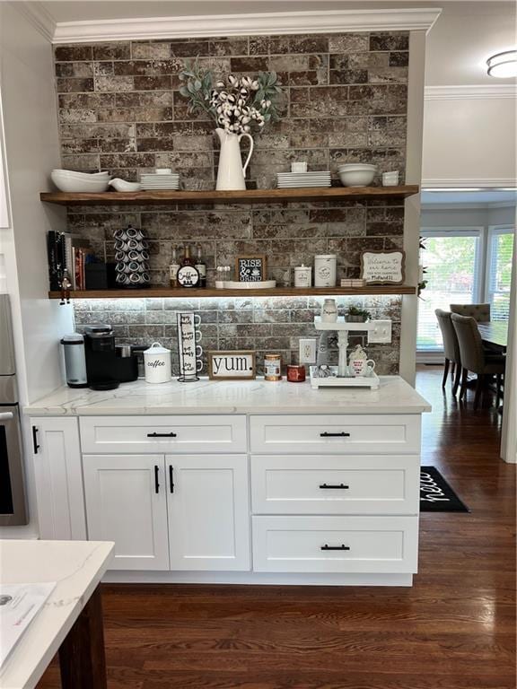
<path id="1" fill-rule="evenodd" d="M 416 287 L 407 284 L 380 285 L 366 287 L 276 287 L 270 290 L 196 290 L 183 288 L 171 290 L 167 287 L 150 287 L 143 290 L 84 290 L 70 292 L 71 299 L 206 299 L 208 297 L 323 297 L 323 296 L 368 296 L 369 294 L 416 294 Z M 48 292 L 49 299 L 61 299 L 61 292 Z"/>

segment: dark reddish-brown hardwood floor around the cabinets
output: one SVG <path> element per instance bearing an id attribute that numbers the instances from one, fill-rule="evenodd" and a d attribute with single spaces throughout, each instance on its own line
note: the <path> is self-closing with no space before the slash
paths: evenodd
<path id="1" fill-rule="evenodd" d="M 105 586 L 110 689 L 515 687 L 515 467 L 495 408 L 442 372 L 418 374 L 423 464 L 471 511 L 422 515 L 412 589 Z M 53 665 L 39 689 L 58 686 Z"/>

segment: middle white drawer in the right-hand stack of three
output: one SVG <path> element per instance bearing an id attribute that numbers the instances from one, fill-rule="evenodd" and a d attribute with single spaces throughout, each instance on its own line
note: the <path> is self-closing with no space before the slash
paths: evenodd
<path id="1" fill-rule="evenodd" d="M 253 455 L 259 514 L 418 514 L 417 455 Z"/>

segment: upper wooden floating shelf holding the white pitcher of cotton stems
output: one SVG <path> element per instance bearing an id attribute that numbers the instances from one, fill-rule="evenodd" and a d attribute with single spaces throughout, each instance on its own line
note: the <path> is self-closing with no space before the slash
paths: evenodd
<path id="1" fill-rule="evenodd" d="M 282 201 L 341 201 L 351 196 L 406 198 L 417 185 L 405 187 L 331 187 L 246 189 L 243 191 L 105 191 L 100 194 L 44 191 L 41 201 L 58 205 L 254 204 Z"/>

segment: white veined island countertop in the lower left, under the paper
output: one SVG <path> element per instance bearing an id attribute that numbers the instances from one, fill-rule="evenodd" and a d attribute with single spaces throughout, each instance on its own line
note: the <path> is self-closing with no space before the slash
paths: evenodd
<path id="1" fill-rule="evenodd" d="M 38 684 L 108 569 L 113 547 L 98 541 L 0 541 L 2 583 L 57 581 L 2 667 L 2 689 Z"/>

